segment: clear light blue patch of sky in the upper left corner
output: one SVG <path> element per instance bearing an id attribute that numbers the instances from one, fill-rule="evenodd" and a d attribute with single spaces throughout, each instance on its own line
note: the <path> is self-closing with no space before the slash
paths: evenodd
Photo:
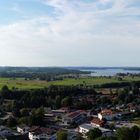
<path id="1" fill-rule="evenodd" d="M 1 24 L 11 24 L 15 21 L 51 15 L 53 7 L 44 5 L 39 0 L 4 0 L 0 1 Z"/>

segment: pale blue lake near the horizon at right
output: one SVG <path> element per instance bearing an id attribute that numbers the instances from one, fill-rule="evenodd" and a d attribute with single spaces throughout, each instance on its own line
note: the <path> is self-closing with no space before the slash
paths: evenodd
<path id="1" fill-rule="evenodd" d="M 90 71 L 91 76 L 114 76 L 117 73 L 140 73 L 140 70 L 124 70 L 124 69 L 81 69 L 82 71 Z"/>

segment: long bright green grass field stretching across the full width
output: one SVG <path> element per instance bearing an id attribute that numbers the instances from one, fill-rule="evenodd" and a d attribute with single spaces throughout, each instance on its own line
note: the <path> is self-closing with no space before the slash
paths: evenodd
<path id="1" fill-rule="evenodd" d="M 24 78 L 0 78 L 0 88 L 4 85 L 7 85 L 9 88 L 21 88 L 21 89 L 34 89 L 34 88 L 43 88 L 50 85 L 101 85 L 106 83 L 119 83 L 119 82 L 130 82 L 130 81 L 140 81 L 140 77 L 125 77 L 122 81 L 119 81 L 115 77 L 104 78 L 104 77 L 95 77 L 95 78 L 80 78 L 80 79 L 64 79 L 61 81 L 40 81 L 40 80 L 25 80 Z"/>

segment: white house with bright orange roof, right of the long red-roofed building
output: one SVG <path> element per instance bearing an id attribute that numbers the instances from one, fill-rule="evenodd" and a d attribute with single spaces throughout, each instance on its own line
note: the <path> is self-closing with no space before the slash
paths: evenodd
<path id="1" fill-rule="evenodd" d="M 100 113 L 98 113 L 98 118 L 100 120 L 106 119 L 107 121 L 111 121 L 111 120 L 113 120 L 117 116 L 118 116 L 118 114 L 117 113 L 114 113 L 110 109 L 104 109 Z"/>

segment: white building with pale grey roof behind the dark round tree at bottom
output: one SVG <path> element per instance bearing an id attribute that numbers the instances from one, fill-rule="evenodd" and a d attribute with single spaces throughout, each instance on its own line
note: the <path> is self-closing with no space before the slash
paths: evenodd
<path id="1" fill-rule="evenodd" d="M 78 132 L 81 133 L 83 135 L 83 137 L 86 137 L 86 133 L 89 132 L 89 130 L 94 129 L 94 128 L 100 129 L 104 136 L 112 135 L 112 131 L 109 129 L 93 126 L 92 124 L 87 124 L 87 123 L 80 125 L 78 128 Z"/>

